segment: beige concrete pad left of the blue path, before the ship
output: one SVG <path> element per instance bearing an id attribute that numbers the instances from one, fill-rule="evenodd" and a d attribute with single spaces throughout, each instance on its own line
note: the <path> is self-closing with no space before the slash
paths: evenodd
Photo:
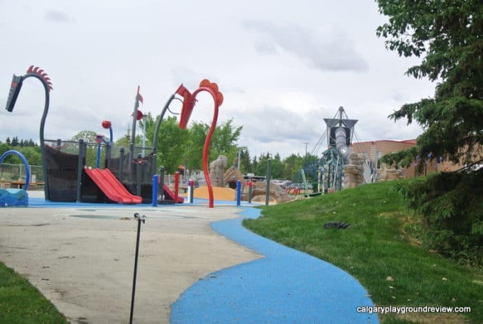
<path id="1" fill-rule="evenodd" d="M 137 229 L 132 216 L 144 213 L 135 323 L 169 323 L 170 305 L 199 278 L 261 257 L 210 228 L 238 217 L 237 211 L 105 204 L 1 208 L 0 261 L 72 323 L 128 323 Z"/>

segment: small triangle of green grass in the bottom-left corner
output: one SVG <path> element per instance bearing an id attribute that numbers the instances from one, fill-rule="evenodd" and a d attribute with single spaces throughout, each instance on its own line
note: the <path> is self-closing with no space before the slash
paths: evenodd
<path id="1" fill-rule="evenodd" d="M 0 323 L 68 323 L 28 280 L 0 262 Z"/>

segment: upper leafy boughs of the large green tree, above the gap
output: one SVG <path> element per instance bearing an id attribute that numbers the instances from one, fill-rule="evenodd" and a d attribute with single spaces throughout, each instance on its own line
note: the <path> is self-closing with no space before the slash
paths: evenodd
<path id="1" fill-rule="evenodd" d="M 420 124 L 413 149 L 387 155 L 388 164 L 417 157 L 472 164 L 483 146 L 483 3 L 480 0 L 378 0 L 389 22 L 377 28 L 386 48 L 422 57 L 406 72 L 438 82 L 434 97 L 404 104 L 390 115 Z"/>

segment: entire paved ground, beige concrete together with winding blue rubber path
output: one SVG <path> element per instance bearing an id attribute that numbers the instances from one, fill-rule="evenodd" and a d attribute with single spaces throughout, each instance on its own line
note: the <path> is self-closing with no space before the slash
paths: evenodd
<path id="1" fill-rule="evenodd" d="M 377 323 L 355 311 L 373 305 L 357 280 L 244 229 L 257 209 L 40 201 L 0 209 L 0 260 L 72 323 L 128 323 L 135 212 L 135 323 Z"/>

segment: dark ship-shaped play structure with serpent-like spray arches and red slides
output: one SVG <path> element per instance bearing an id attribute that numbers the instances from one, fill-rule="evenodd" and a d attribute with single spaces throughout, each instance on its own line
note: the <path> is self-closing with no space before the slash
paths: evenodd
<path id="1" fill-rule="evenodd" d="M 44 125 L 48 115 L 50 102 L 50 90 L 52 83 L 50 78 L 40 68 L 30 66 L 26 75 L 13 75 L 10 93 L 6 104 L 6 110 L 12 112 L 19 95 L 23 81 L 28 77 L 35 77 L 41 81 L 45 89 L 46 97 L 43 115 L 40 123 L 40 148 L 43 166 L 44 196 L 46 200 L 59 202 L 120 202 L 123 204 L 150 203 L 153 198 L 153 175 L 157 171 L 157 137 L 161 121 L 169 110 L 168 106 L 175 98 L 181 95 L 184 98 L 181 110 L 180 128 L 186 128 L 189 117 L 196 102 L 196 95 L 201 91 L 207 91 L 215 100 L 215 113 L 204 145 L 204 173 L 208 189 L 211 189 L 208 178 L 208 150 L 211 135 L 215 131 L 218 108 L 223 102 L 223 95 L 219 93 L 217 84 L 204 79 L 193 95 L 181 84 L 176 92 L 170 96 L 168 102 L 161 111 L 155 128 L 153 147 L 135 146 L 136 123 L 139 120 L 139 101 L 142 97 L 139 94 L 139 86 L 135 98 L 134 111 L 132 113 L 132 134 L 128 148 L 115 147 L 112 142 L 112 127 L 110 122 L 103 121 L 102 126 L 110 129 L 110 141 L 106 142 L 99 138 L 97 143 L 88 143 L 83 140 L 78 142 L 62 140 L 45 140 Z M 97 148 L 96 168 L 86 166 L 86 154 L 88 147 Z M 101 163 L 101 150 L 103 150 L 103 161 Z M 145 151 L 150 153 L 145 154 Z M 103 169 L 99 169 L 99 166 Z M 157 177 L 156 177 L 157 178 Z M 159 182 L 158 182 L 159 184 Z M 157 184 L 154 184 L 157 186 Z M 157 189 L 157 187 L 156 187 Z M 172 193 L 163 185 L 164 197 L 173 202 L 183 202 L 184 199 Z M 161 195 L 162 199 L 163 195 Z M 210 206 L 213 207 L 213 192 L 210 193 Z"/>

